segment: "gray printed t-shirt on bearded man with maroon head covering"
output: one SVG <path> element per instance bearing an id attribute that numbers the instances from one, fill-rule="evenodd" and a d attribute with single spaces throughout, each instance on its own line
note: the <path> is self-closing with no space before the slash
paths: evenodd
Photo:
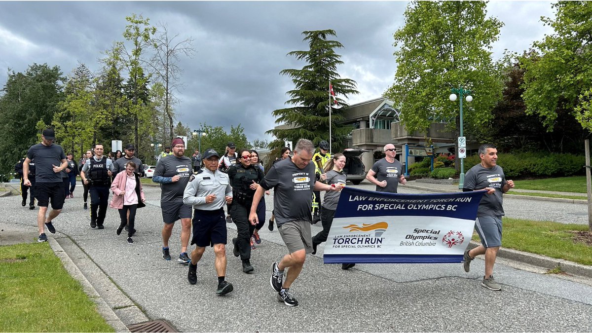
<path id="1" fill-rule="evenodd" d="M 160 184 L 160 203 L 183 202 L 183 192 L 191 176 L 191 159 L 186 156 L 178 158 L 175 155 L 166 156 L 156 164 L 154 177 L 161 176 L 171 178 L 179 175 L 179 181 Z"/>

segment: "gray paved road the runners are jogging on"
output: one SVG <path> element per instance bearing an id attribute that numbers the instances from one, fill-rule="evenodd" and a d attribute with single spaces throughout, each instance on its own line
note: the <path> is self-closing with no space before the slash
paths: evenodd
<path id="1" fill-rule="evenodd" d="M 343 271 L 340 265 L 323 264 L 322 246 L 317 255 L 307 258 L 303 274 L 291 289 L 300 306 L 289 308 L 277 302 L 269 286 L 270 265 L 287 250 L 278 232 L 266 227 L 261 231 L 262 244 L 253 251 L 253 274 L 242 273 L 240 260 L 227 249 L 227 280 L 235 291 L 218 297 L 210 249 L 198 264 L 195 286 L 186 281 L 186 267 L 162 260 L 159 188 L 146 188 L 149 204 L 139 210 L 134 245 L 127 245 L 123 234 L 115 235 L 118 213 L 114 209 L 108 210 L 104 230 L 91 229 L 89 211 L 82 210 L 79 190 L 75 194 L 54 221 L 58 233 L 50 237 L 62 244 L 127 325 L 145 315 L 166 319 L 181 331 L 208 332 L 592 331 L 592 281 L 588 279 L 540 274 L 533 267 L 498 261 L 496 279 L 503 291 L 492 292 L 480 286 L 484 269 L 480 259 L 473 261 L 468 274 L 461 264 L 359 264 Z M 266 197 L 268 210 L 271 200 L 272 196 Z M 507 200 L 508 215 L 529 209 L 526 215 L 534 219 L 552 209 L 565 212 L 557 213 L 556 220 L 567 220 L 570 212 L 585 207 L 524 201 Z M 0 216 L 2 223 L 34 228 L 36 210 L 21 207 L 17 196 L 4 197 Z M 236 229 L 228 226 L 230 238 Z M 313 226 L 313 233 L 318 230 L 320 226 Z M 172 254 L 178 254 L 178 237 L 175 228 Z M 109 281 L 104 283 L 103 274 L 123 294 Z M 143 309 L 143 315 L 133 312 L 135 306 Z"/>

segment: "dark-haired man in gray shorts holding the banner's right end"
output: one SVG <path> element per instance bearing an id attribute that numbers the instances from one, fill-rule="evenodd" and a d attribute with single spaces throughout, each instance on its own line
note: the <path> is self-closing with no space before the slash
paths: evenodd
<path id="1" fill-rule="evenodd" d="M 513 188 L 514 182 L 506 181 L 503 169 L 497 165 L 496 146 L 487 143 L 481 145 L 479 157 L 481 164 L 466 172 L 462 191 L 487 190 L 487 194 L 481 198 L 475 219 L 481 245 L 465 251 L 463 267 L 468 273 L 471 260 L 485 254 L 485 276 L 481 285 L 490 290 L 501 290 L 500 284 L 493 278 L 493 265 L 501 246 L 501 216 L 504 215 L 502 194 Z"/>

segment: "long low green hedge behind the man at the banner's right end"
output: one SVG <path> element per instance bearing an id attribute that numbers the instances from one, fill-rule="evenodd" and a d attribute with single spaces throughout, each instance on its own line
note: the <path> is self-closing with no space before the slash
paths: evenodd
<path id="1" fill-rule="evenodd" d="M 465 172 L 481 162 L 478 155 L 465 158 Z M 559 153 L 501 153 L 497 164 L 504 169 L 506 179 L 568 177 L 583 175 L 583 155 Z"/>

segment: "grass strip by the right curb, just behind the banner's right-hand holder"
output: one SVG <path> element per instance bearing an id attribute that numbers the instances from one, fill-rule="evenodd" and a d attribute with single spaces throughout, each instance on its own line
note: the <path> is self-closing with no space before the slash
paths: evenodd
<path id="1" fill-rule="evenodd" d="M 501 246 L 519 251 L 565 259 L 583 265 L 592 265 L 592 246 L 575 242 L 570 231 L 586 231 L 587 225 L 540 222 L 503 218 Z M 474 241 L 480 241 L 474 233 Z"/>

